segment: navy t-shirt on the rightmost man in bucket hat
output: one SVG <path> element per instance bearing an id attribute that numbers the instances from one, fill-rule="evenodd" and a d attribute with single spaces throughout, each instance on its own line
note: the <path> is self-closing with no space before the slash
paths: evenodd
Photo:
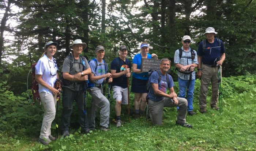
<path id="1" fill-rule="evenodd" d="M 221 57 L 222 53 L 225 53 L 226 50 L 225 50 L 224 44 L 221 40 L 220 40 L 220 42 L 221 42 L 221 47 L 212 48 L 212 47 L 219 46 L 217 38 L 214 38 L 214 43 L 212 43 L 212 44 L 210 44 L 206 40 L 206 49 L 204 49 L 204 52 L 203 52 L 203 41 L 200 42 L 200 44 L 198 46 L 197 54 L 199 56 L 202 56 L 202 63 L 203 64 L 214 65 L 214 60 L 217 57 Z M 212 49 L 207 49 L 208 47 L 210 47 Z"/>

